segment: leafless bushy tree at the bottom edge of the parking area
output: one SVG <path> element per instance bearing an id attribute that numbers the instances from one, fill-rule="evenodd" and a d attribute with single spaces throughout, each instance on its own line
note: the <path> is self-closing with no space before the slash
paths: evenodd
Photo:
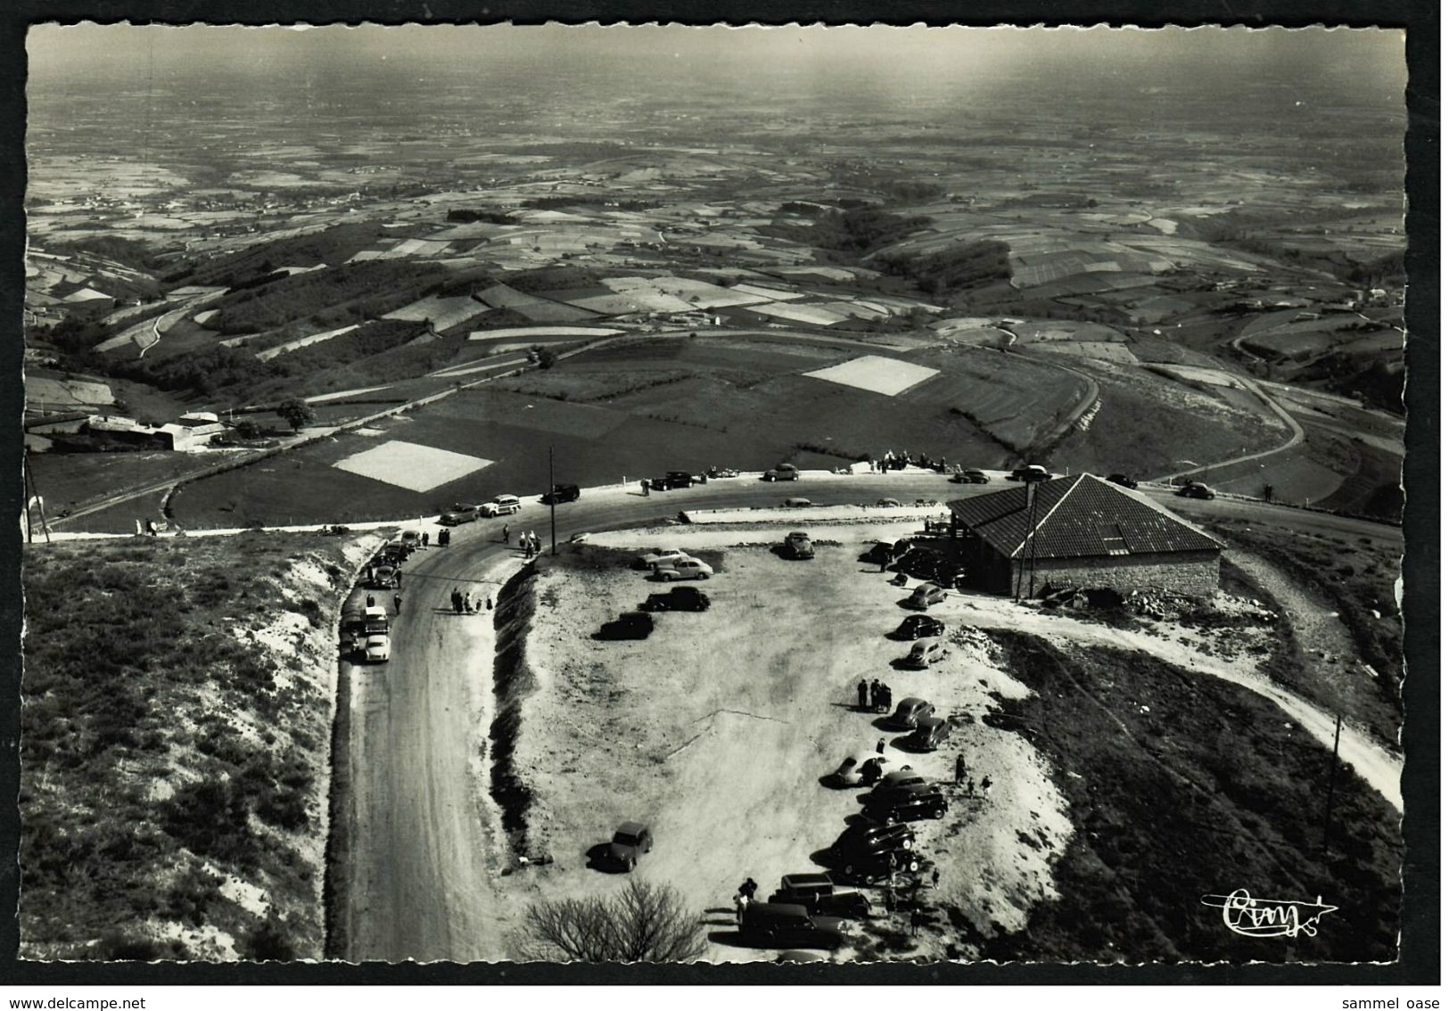
<path id="1" fill-rule="evenodd" d="M 630 878 L 610 897 L 535 902 L 514 947 L 525 962 L 693 962 L 706 944 L 678 891 Z"/>

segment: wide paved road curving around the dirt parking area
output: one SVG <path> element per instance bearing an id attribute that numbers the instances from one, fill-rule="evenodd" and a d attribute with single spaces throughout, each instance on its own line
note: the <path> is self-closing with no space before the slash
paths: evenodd
<path id="1" fill-rule="evenodd" d="M 798 485 L 736 478 L 648 498 L 626 488 L 598 490 L 558 508 L 558 539 L 635 527 L 684 508 L 778 504 L 797 491 L 833 504 L 887 495 L 945 501 L 1001 487 L 890 474 L 822 477 Z M 1193 516 L 1271 516 L 1304 532 L 1400 539 L 1394 527 L 1266 504 L 1172 504 Z M 513 532 L 532 529 L 548 543 L 546 507 L 530 503 L 506 519 Z M 404 575 L 403 613 L 394 623 L 393 660 L 355 672 L 354 789 L 346 813 L 352 862 L 333 868 L 349 898 L 343 910 L 348 946 L 339 952 L 348 960 L 477 960 L 506 950 L 488 910 L 506 843 L 490 810 L 485 759 L 471 750 L 493 713 L 493 621 L 487 614 L 459 617 L 448 607 L 452 587 L 494 594 L 517 568 L 516 552 L 498 540 L 501 523 L 456 527 L 451 548 L 414 556 Z"/>

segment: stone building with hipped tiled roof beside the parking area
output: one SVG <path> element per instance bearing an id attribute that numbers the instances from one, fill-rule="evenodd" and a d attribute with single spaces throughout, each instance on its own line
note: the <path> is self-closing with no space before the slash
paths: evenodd
<path id="1" fill-rule="evenodd" d="M 1035 503 L 1027 500 L 1035 494 Z M 1024 595 L 1045 587 L 1217 590 L 1223 545 L 1166 508 L 1091 474 L 949 503 L 968 578 Z"/>

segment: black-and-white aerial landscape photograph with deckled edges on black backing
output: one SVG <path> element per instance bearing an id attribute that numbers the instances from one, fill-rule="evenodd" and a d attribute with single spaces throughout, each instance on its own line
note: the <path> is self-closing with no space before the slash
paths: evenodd
<path id="1" fill-rule="evenodd" d="M 1404 30 L 25 55 L 22 962 L 1400 960 Z"/>

